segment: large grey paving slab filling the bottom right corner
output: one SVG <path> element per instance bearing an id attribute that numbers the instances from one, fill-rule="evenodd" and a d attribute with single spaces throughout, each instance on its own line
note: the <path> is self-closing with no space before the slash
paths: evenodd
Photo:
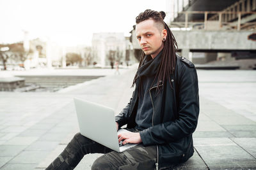
<path id="1" fill-rule="evenodd" d="M 194 141 L 210 169 L 256 168 L 255 157 L 228 138 L 195 138 Z"/>

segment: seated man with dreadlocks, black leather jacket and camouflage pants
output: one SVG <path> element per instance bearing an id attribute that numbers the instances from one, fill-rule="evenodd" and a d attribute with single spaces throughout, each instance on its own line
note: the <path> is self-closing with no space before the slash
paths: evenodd
<path id="1" fill-rule="evenodd" d="M 87 153 L 105 153 L 92 169 L 168 169 L 193 155 L 192 133 L 199 114 L 195 66 L 175 52 L 177 43 L 165 13 L 146 10 L 136 17 L 143 54 L 130 102 L 116 116 L 118 141 L 139 143 L 118 153 L 77 133 L 47 169 L 73 169 Z"/>

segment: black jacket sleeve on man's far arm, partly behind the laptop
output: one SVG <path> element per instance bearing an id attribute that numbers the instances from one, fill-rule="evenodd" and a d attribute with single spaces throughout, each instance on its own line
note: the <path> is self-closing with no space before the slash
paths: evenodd
<path id="1" fill-rule="evenodd" d="M 132 97 L 134 95 L 134 92 L 132 93 Z M 131 108 L 131 103 L 132 103 L 132 97 L 129 101 L 129 103 L 127 104 L 127 106 L 125 106 L 125 108 L 118 114 L 115 116 L 115 121 L 118 123 L 118 127 L 122 127 L 123 125 L 127 124 L 128 119 L 129 119 L 129 110 Z"/>

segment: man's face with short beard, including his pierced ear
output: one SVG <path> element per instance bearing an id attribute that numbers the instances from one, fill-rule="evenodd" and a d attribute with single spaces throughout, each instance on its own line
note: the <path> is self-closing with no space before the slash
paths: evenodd
<path id="1" fill-rule="evenodd" d="M 136 36 L 141 49 L 146 55 L 154 57 L 163 49 L 163 38 L 166 38 L 167 31 L 161 31 L 161 25 L 152 20 L 144 20 L 136 25 Z"/>

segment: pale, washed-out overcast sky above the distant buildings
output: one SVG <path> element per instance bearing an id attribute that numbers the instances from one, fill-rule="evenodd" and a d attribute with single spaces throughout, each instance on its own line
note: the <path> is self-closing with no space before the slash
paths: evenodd
<path id="1" fill-rule="evenodd" d="M 51 39 L 64 46 L 91 45 L 93 32 L 124 32 L 146 9 L 166 11 L 166 0 L 0 0 L 0 43 Z"/>

